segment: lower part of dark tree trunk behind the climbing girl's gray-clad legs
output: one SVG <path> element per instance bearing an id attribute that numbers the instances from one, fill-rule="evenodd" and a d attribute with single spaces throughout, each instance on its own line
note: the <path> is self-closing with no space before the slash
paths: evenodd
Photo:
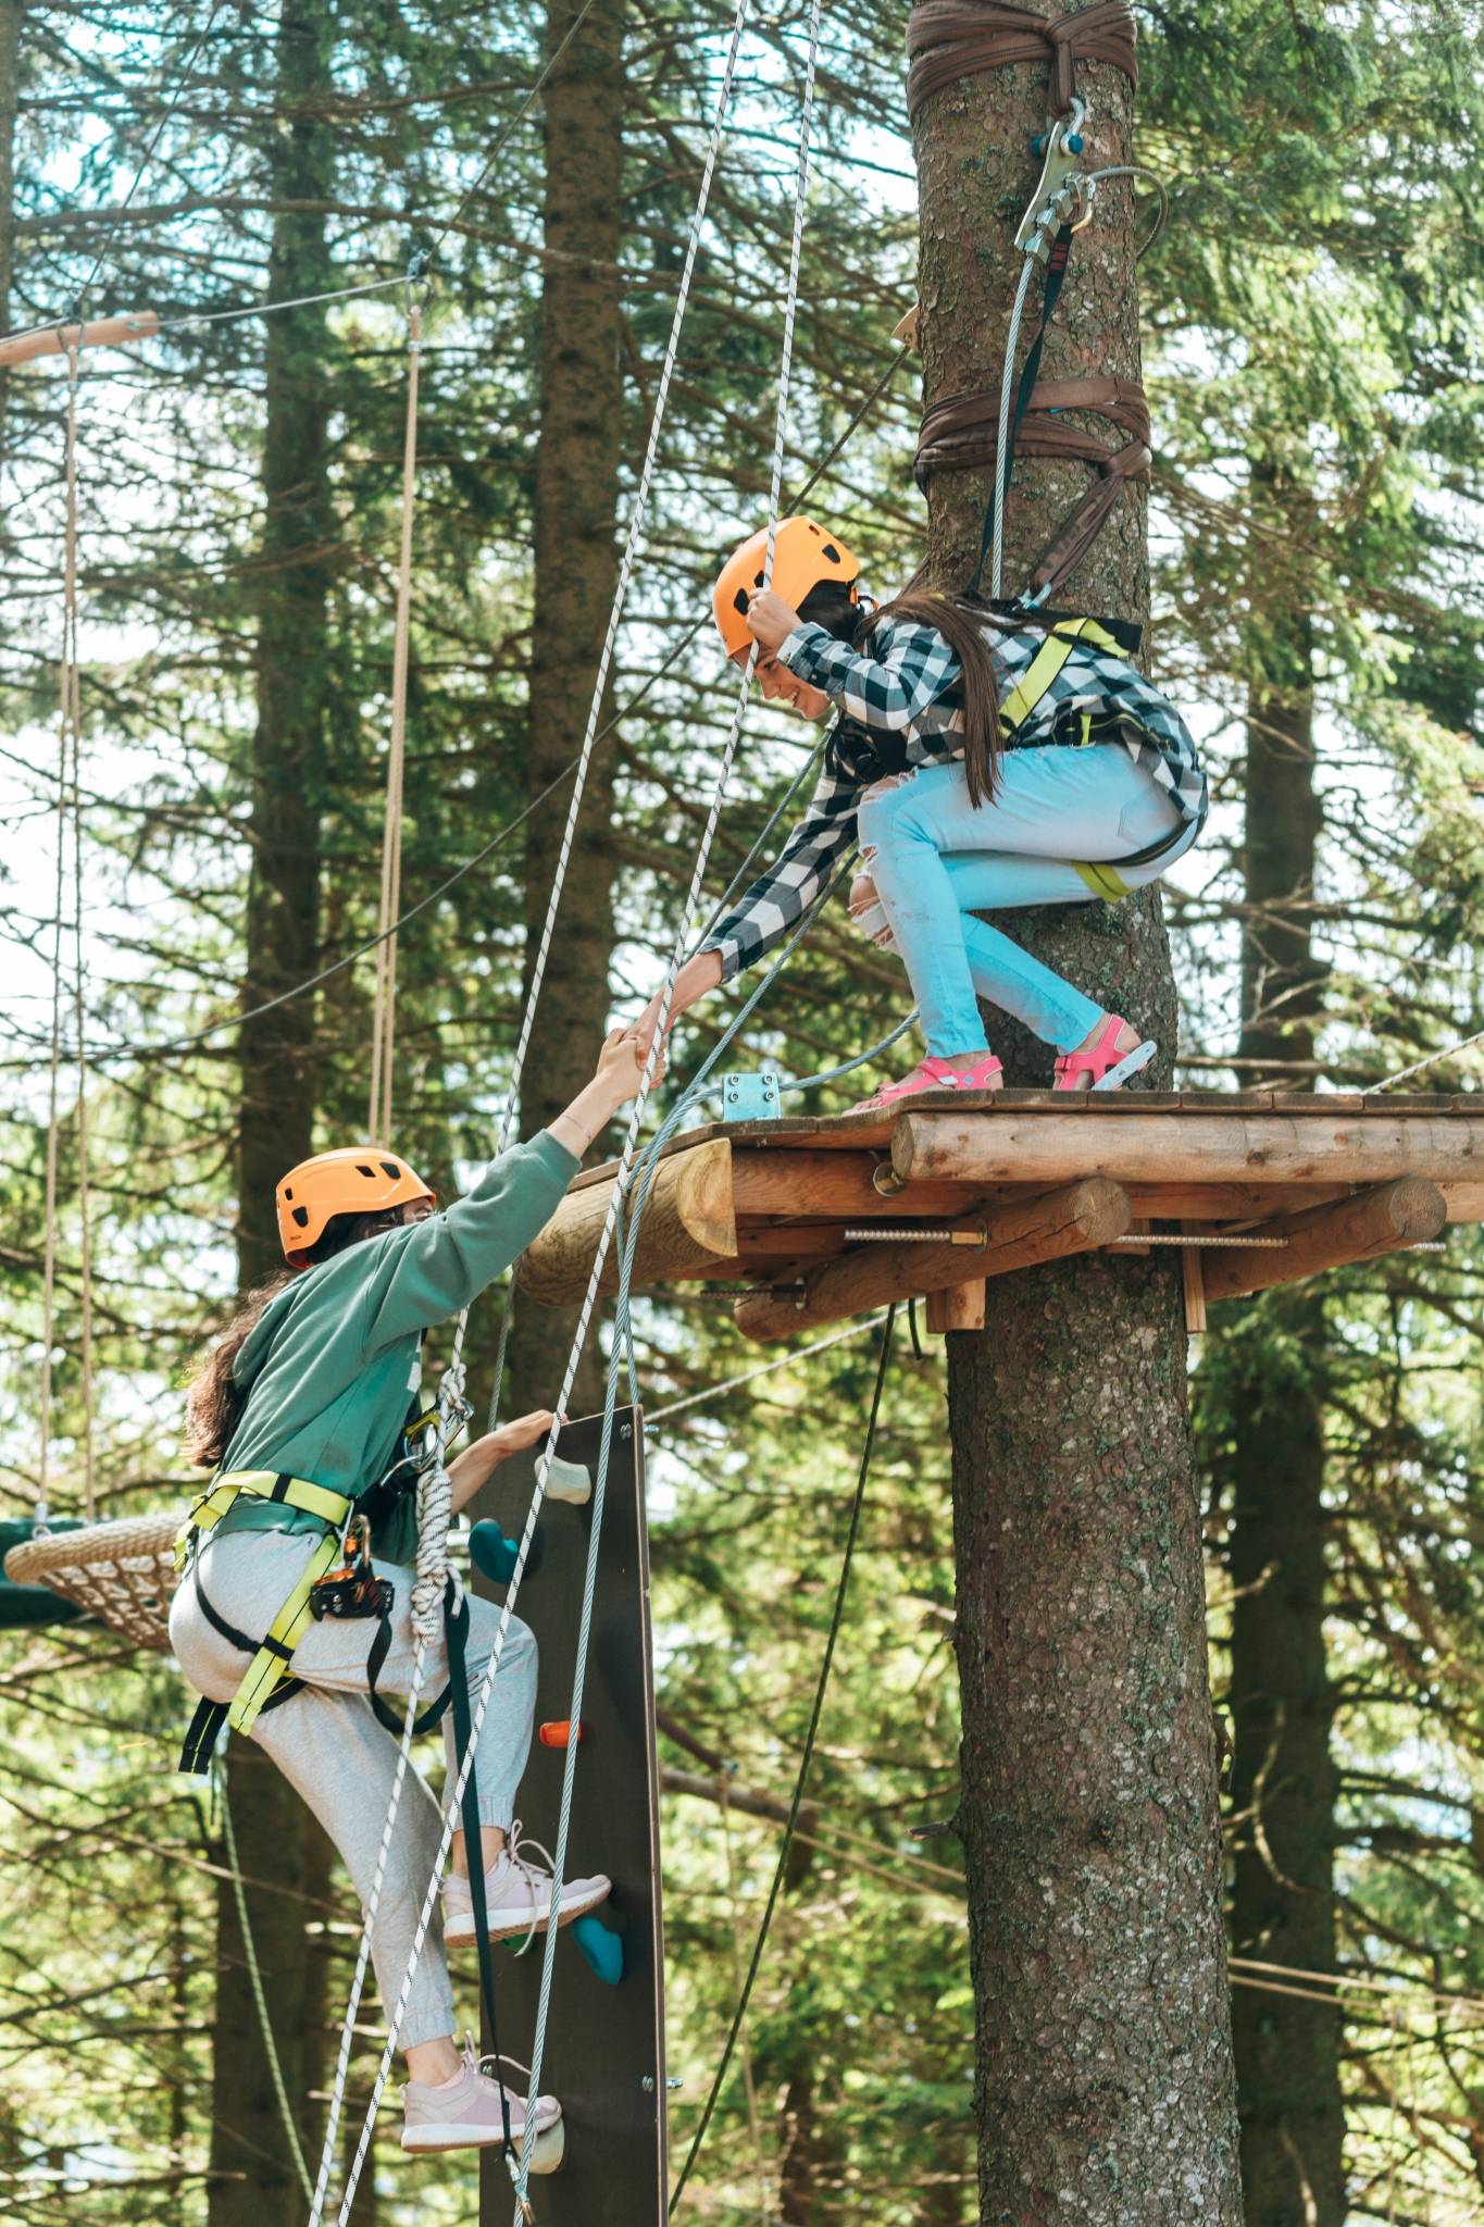
<path id="1" fill-rule="evenodd" d="M 276 1764 L 236 1733 L 227 1793 L 267 2015 L 314 2176 L 320 2105 L 309 2102 L 309 2091 L 323 2084 L 327 2067 L 325 1958 L 311 1946 L 305 1924 L 325 1915 L 332 1851 Z M 225 1844 L 216 1848 L 216 1860 L 227 1862 Z M 265 1886 L 254 1886 L 254 1880 Z M 209 2227 L 303 2227 L 305 2196 L 274 2091 L 236 1893 L 227 1880 L 216 1900 L 216 1971 Z"/>

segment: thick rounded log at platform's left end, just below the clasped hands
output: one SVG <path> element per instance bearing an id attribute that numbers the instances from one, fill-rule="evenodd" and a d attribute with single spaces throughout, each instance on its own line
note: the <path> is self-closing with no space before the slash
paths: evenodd
<path id="1" fill-rule="evenodd" d="M 574 1307 L 583 1298 L 612 1196 L 612 1176 L 583 1191 L 567 1191 L 536 1243 L 521 1254 L 521 1292 L 541 1307 Z M 732 1260 L 734 1254 L 732 1147 L 719 1136 L 661 1160 L 639 1229 L 634 1283 L 694 1276 L 719 1256 Z M 607 1249 L 598 1289 L 619 1289 L 616 1245 Z"/>

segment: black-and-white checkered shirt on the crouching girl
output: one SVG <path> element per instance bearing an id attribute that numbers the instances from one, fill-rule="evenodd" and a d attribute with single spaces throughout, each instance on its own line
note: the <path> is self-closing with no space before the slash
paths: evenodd
<path id="1" fill-rule="evenodd" d="M 1010 697 L 1046 646 L 1046 632 L 990 630 L 999 673 L 999 699 Z M 963 757 L 963 713 L 959 708 L 959 659 L 934 626 L 881 619 L 872 639 L 874 657 L 837 641 L 823 626 L 797 626 L 779 648 L 779 661 L 801 681 L 821 688 L 843 719 L 859 719 L 877 733 L 906 742 L 910 766 L 950 766 Z M 1032 704 L 1017 728 L 1006 733 L 1006 750 L 1048 744 L 1084 746 L 1121 742 L 1148 766 L 1155 782 L 1197 828 L 1206 820 L 1206 773 L 1195 739 L 1175 706 L 1115 650 L 1075 644 L 1070 657 Z M 779 857 L 719 920 L 701 944 L 721 953 L 721 980 L 756 967 L 790 935 L 854 848 L 857 806 L 868 782 L 825 771 Z M 1117 864 L 1117 862 L 1115 862 Z"/>

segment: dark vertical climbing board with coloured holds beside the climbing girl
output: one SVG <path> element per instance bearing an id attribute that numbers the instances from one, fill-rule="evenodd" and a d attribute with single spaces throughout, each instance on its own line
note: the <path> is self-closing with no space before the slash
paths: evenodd
<path id="1" fill-rule="evenodd" d="M 565 1461 L 596 1479 L 601 1416 L 561 1434 Z M 627 1436 L 625 1436 L 627 1432 Z M 496 1517 L 509 1539 L 525 1523 L 534 1452 L 501 1463 L 472 1514 Z M 572 1664 L 592 1503 L 545 1501 L 521 1586 L 518 1615 L 536 1635 L 541 1668 L 536 1724 L 572 1715 Z M 505 1588 L 474 1579 L 503 1601 Z M 516 1815 L 545 1848 L 556 1848 L 565 1753 L 532 1742 Z M 541 2087 L 556 2096 L 567 2125 L 567 2156 L 556 2174 L 532 2180 L 541 2227 L 665 2227 L 665 1933 L 659 1862 L 659 1757 L 650 1637 L 650 1548 L 643 1503 L 643 1421 L 621 1407 L 614 1423 L 603 1537 L 583 1690 L 583 1744 L 576 1757 L 567 1877 L 605 1871 L 612 1897 L 596 1913 L 623 1940 L 623 1978 L 598 1980 L 570 1933 L 556 1942 L 552 2009 Z M 532 2062 L 541 1951 L 494 1951 L 501 2049 Z M 467 1953 L 469 1969 L 474 1953 Z M 485 2047 L 489 2038 L 485 2035 Z M 645 2084 L 647 2082 L 647 2084 Z M 481 2156 L 481 2227 L 509 2227 L 509 2174 L 498 2151 Z"/>

